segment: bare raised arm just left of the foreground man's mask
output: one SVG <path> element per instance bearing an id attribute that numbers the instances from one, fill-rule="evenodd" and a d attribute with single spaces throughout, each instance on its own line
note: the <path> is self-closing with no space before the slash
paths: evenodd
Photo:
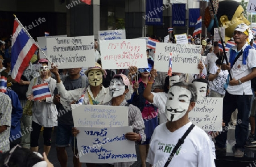
<path id="1" fill-rule="evenodd" d="M 150 78 L 150 80 L 148 80 L 147 86 L 146 86 L 146 88 L 144 89 L 143 97 L 144 97 L 144 99 L 146 99 L 148 102 L 152 103 L 152 102 L 153 102 L 154 95 L 151 93 L 151 88 L 152 88 L 152 84 L 154 83 L 154 78 L 155 78 L 158 74 L 157 74 L 157 71 L 153 68 L 153 69 L 150 71 L 150 75 L 151 75 L 151 78 Z"/>

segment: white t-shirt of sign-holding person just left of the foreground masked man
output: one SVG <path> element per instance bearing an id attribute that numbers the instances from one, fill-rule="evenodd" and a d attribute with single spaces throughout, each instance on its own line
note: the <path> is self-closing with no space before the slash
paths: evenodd
<path id="1" fill-rule="evenodd" d="M 164 123 L 167 121 L 167 116 L 165 114 L 166 108 L 166 101 L 167 101 L 167 93 L 165 92 L 152 92 L 154 95 L 152 105 L 158 108 L 158 117 L 159 117 L 159 124 Z"/>

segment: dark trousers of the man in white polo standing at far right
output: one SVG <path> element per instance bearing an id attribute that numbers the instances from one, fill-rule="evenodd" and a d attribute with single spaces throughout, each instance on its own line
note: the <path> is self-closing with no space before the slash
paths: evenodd
<path id="1" fill-rule="evenodd" d="M 220 148 L 226 147 L 226 138 L 228 134 L 228 123 L 230 122 L 231 114 L 235 109 L 238 110 L 237 113 L 237 125 L 235 130 L 236 136 L 236 149 L 244 151 L 245 141 L 249 132 L 249 114 L 251 108 L 251 97 L 253 95 L 231 95 L 226 92 L 223 99 L 223 121 L 225 122 L 225 127 L 223 128 L 220 135 L 218 135 L 216 140 L 216 145 Z"/>

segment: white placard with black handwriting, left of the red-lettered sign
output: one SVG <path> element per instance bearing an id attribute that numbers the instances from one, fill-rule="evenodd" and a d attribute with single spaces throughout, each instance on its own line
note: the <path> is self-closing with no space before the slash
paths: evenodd
<path id="1" fill-rule="evenodd" d="M 94 36 L 47 38 L 47 53 L 59 69 L 95 65 Z"/>

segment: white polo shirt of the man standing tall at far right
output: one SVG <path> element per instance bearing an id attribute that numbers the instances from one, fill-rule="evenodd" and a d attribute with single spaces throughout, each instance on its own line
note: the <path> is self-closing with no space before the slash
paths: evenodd
<path id="1" fill-rule="evenodd" d="M 243 45 L 242 50 L 245 50 L 247 45 L 248 44 Z M 237 52 L 237 46 L 233 46 L 232 49 Z M 226 56 L 228 57 L 228 60 L 229 60 L 230 52 L 228 52 Z M 236 63 L 231 69 L 231 75 L 233 79 L 236 79 L 236 80 L 241 79 L 243 76 L 250 74 L 252 71 L 251 69 L 253 67 L 256 67 L 256 50 L 249 49 L 249 54 L 246 59 L 246 65 L 243 65 L 242 61 L 243 61 L 243 54 L 240 55 L 240 58 L 238 58 L 238 60 L 236 61 Z M 224 63 L 226 62 L 224 61 Z M 226 91 L 228 91 L 228 93 L 232 95 L 243 95 L 243 92 L 245 93 L 245 95 L 253 95 L 253 92 L 251 91 L 250 80 L 242 83 L 241 85 L 234 85 L 234 86 L 228 85 L 228 88 L 226 89 Z"/>

